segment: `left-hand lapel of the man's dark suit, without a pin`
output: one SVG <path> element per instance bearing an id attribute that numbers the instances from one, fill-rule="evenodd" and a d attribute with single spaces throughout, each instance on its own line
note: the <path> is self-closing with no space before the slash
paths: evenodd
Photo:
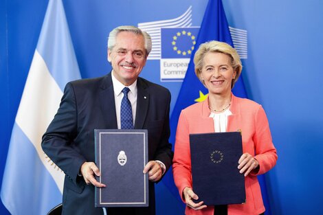
<path id="1" fill-rule="evenodd" d="M 107 126 L 107 129 L 116 129 L 118 128 L 118 126 L 117 117 L 115 115 L 115 100 L 111 73 L 104 77 L 100 88 L 100 104 L 104 122 Z"/>

